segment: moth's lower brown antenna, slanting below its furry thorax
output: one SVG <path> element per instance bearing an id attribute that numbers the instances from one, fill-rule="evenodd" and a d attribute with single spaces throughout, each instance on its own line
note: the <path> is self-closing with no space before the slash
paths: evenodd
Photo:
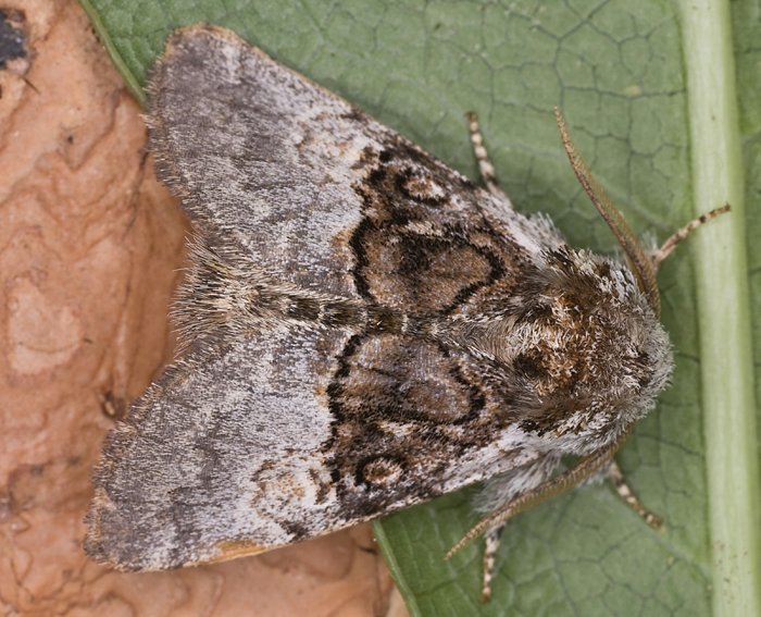
<path id="1" fill-rule="evenodd" d="M 624 444 L 627 436 L 628 431 L 623 433 L 612 444 L 585 456 L 567 471 L 564 471 L 554 478 L 550 478 L 535 489 L 520 495 L 519 497 L 515 497 L 501 508 L 481 519 L 469 530 L 467 533 L 465 533 L 465 535 L 460 539 L 457 544 L 454 544 L 454 546 L 449 550 L 445 556 L 445 559 L 451 558 L 452 555 L 467 546 L 476 538 L 490 529 L 503 525 L 509 518 L 512 518 L 516 514 L 521 514 L 522 511 L 531 509 L 535 505 L 549 499 L 550 497 L 554 497 L 556 495 L 563 493 L 564 491 L 579 484 L 596 473 L 599 469 L 608 465 L 613 459 L 613 456 Z"/>

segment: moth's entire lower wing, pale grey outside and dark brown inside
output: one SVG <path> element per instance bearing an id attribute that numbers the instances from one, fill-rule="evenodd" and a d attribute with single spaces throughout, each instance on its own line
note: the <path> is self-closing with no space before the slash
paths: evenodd
<path id="1" fill-rule="evenodd" d="M 125 570 L 255 554 L 531 461 L 458 367 L 349 330 L 192 349 L 109 436 L 86 551 Z"/>

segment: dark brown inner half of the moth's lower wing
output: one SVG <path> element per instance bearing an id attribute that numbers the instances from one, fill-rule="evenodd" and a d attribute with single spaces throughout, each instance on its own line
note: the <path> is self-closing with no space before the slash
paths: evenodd
<path id="1" fill-rule="evenodd" d="M 327 462 L 344 516 L 372 518 L 531 461 L 499 443 L 513 418 L 479 384 L 434 342 L 353 336 L 328 388 Z"/>

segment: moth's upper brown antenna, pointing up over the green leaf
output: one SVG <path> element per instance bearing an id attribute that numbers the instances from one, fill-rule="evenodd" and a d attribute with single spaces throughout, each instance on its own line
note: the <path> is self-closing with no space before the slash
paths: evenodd
<path id="1" fill-rule="evenodd" d="M 619 240 L 621 248 L 624 249 L 626 259 L 629 262 L 629 267 L 637 277 L 639 283 L 639 288 L 645 293 L 648 298 L 648 304 L 656 317 L 661 314 L 661 295 L 658 291 L 658 282 L 656 281 L 656 266 L 652 259 L 650 259 L 639 239 L 628 226 L 628 223 L 624 219 L 621 211 L 613 206 L 610 198 L 606 195 L 606 192 L 600 186 L 599 182 L 591 175 L 587 165 L 584 163 L 581 155 L 574 147 L 569 136 L 567 127 L 565 125 L 565 120 L 560 113 L 560 109 L 554 107 L 554 119 L 558 123 L 558 129 L 560 131 L 560 139 L 563 143 L 563 148 L 569 157 L 573 172 L 578 178 L 578 183 L 584 188 L 584 192 L 589 196 L 589 199 L 597 208 L 597 211 L 604 219 L 608 226 L 613 232 L 613 235 Z"/>

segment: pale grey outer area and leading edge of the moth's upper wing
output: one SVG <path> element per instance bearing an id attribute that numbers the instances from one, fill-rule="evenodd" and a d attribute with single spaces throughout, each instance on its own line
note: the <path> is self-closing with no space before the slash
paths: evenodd
<path id="1" fill-rule="evenodd" d="M 372 207 L 359 187 L 378 158 L 417 164 L 402 188 L 439 199 L 440 224 L 484 211 L 513 220 L 504 203 L 229 30 L 174 34 L 148 92 L 162 180 L 198 227 L 234 239 L 282 281 L 354 294 L 348 233 Z"/>

